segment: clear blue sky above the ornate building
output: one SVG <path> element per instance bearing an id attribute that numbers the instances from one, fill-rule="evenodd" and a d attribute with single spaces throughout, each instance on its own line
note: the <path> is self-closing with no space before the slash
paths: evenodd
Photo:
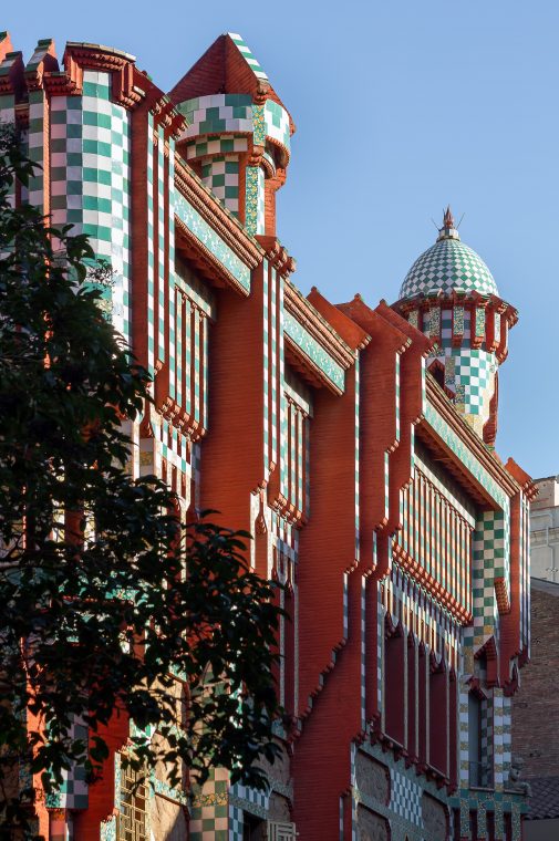
<path id="1" fill-rule="evenodd" d="M 392 302 L 443 206 L 518 308 L 500 377 L 503 458 L 559 473 L 559 3 L 553 0 L 94 0 L 2 3 L 29 56 L 110 44 L 168 90 L 221 32 L 244 35 L 290 110 L 279 236 L 296 283 Z"/>

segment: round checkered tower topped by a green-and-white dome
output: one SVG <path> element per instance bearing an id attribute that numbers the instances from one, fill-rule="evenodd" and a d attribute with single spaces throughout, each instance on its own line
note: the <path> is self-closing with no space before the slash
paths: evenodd
<path id="1" fill-rule="evenodd" d="M 516 310 L 466 246 L 447 207 L 434 246 L 413 263 L 396 309 L 433 340 L 427 367 L 483 440 L 497 433 L 498 367 Z"/>

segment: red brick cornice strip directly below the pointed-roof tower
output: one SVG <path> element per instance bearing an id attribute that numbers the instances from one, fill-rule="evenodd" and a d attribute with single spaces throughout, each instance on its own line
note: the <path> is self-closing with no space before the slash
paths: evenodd
<path id="1" fill-rule="evenodd" d="M 175 158 L 175 186 L 246 266 L 255 269 L 262 261 L 263 249 L 178 156 Z"/>

